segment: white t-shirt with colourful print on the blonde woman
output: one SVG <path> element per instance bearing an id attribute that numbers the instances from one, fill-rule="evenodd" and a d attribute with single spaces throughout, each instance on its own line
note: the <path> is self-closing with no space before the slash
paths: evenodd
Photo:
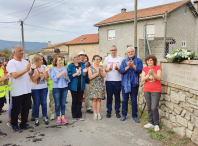
<path id="1" fill-rule="evenodd" d="M 37 79 L 36 82 L 32 82 L 31 81 L 31 88 L 32 89 L 44 89 L 44 88 L 47 88 L 47 81 L 45 80 L 45 76 L 46 76 L 46 73 L 45 73 L 45 70 L 46 70 L 46 65 L 41 65 L 40 68 L 38 68 L 39 72 L 41 73 L 40 77 Z M 38 74 L 38 70 L 35 69 L 34 70 L 34 73 L 32 75 L 35 76 L 35 74 Z"/>

